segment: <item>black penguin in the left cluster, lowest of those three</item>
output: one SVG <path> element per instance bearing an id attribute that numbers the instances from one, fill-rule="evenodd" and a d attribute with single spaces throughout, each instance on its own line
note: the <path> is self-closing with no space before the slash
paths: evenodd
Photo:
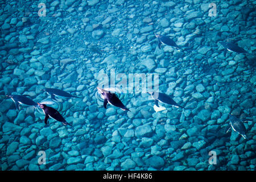
<path id="1" fill-rule="evenodd" d="M 45 104 L 39 104 L 38 105 L 43 109 L 44 114 L 46 114 L 46 117 L 44 118 L 44 123 L 47 124 L 48 118 L 51 117 L 53 119 L 55 119 L 56 121 L 60 121 L 61 123 L 63 123 L 63 125 L 70 125 L 63 117 L 62 115 L 54 108 L 49 107 Z"/>

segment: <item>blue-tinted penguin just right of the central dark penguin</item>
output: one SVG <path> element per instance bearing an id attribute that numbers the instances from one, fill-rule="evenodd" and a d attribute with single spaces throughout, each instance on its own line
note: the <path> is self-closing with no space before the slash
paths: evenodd
<path id="1" fill-rule="evenodd" d="M 167 96 L 167 94 L 160 93 L 160 92 L 148 92 L 148 93 L 151 94 L 152 99 L 155 100 L 155 105 L 158 107 L 159 107 L 158 101 L 160 101 L 164 104 L 180 107 L 181 109 L 183 109 L 182 106 L 177 104 L 170 96 Z"/>

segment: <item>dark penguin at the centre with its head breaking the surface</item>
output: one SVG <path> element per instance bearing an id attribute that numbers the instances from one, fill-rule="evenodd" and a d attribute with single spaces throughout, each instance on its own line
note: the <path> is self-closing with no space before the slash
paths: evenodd
<path id="1" fill-rule="evenodd" d="M 102 95 L 102 97 L 104 98 L 104 108 L 106 109 L 106 105 L 109 103 L 109 104 L 112 104 L 116 107 L 120 107 L 122 110 L 128 110 L 130 111 L 129 109 L 126 108 L 126 106 L 124 106 L 122 104 L 122 102 L 119 100 L 119 98 L 117 97 L 116 94 L 114 93 L 110 93 L 108 90 L 104 90 L 104 89 L 101 89 L 101 88 L 98 88 L 98 92 Z"/>

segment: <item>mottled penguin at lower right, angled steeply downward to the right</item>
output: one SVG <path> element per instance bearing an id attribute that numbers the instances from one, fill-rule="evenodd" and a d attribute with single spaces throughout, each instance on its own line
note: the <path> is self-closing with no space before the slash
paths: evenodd
<path id="1" fill-rule="evenodd" d="M 236 131 L 238 134 L 240 134 L 244 139 L 246 139 L 246 128 L 245 125 L 243 125 L 242 121 L 235 117 L 232 114 L 229 114 L 229 123 L 234 131 Z M 231 127 L 228 129 L 228 131 L 231 129 Z M 226 131 L 226 133 L 228 133 Z"/>

